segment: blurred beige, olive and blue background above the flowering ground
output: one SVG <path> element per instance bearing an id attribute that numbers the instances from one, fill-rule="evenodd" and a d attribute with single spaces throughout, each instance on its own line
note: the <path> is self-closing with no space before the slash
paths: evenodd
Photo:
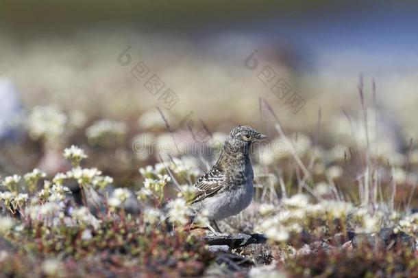
<path id="1" fill-rule="evenodd" d="M 129 184 L 158 161 L 133 142 L 167 141 L 156 107 L 188 139 L 249 124 L 273 140 L 260 99 L 311 142 L 321 109 L 318 139 L 341 157 L 353 134 L 364 141 L 360 74 L 376 155 L 403 165 L 418 135 L 417 11 L 409 1 L 2 1 L 0 172 L 52 174 L 77 144 Z"/>

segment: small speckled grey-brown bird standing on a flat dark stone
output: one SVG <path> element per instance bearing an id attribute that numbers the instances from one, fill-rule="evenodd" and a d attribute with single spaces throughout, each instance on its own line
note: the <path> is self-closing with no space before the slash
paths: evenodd
<path id="1" fill-rule="evenodd" d="M 254 171 L 249 152 L 252 143 L 266 137 L 249 126 L 233 128 L 217 163 L 193 184 L 195 195 L 188 205 L 196 213 L 205 211 L 213 233 L 221 233 L 217 220 L 234 216 L 251 203 Z"/>

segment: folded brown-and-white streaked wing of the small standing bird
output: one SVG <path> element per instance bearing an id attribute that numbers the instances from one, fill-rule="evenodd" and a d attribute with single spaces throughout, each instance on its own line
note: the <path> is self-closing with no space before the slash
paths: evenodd
<path id="1" fill-rule="evenodd" d="M 193 185 L 196 189 L 195 197 L 188 201 L 188 204 L 199 202 L 204 198 L 215 194 L 223 187 L 225 176 L 223 173 L 213 167 L 209 172 L 197 179 Z"/>

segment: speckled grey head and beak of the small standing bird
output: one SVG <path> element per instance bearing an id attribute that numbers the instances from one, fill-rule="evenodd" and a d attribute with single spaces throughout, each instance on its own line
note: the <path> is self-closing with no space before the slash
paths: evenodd
<path id="1" fill-rule="evenodd" d="M 249 126 L 237 126 L 231 130 L 230 135 L 225 141 L 225 147 L 236 152 L 247 151 L 251 143 L 266 137 L 266 135 L 262 135 Z"/>

